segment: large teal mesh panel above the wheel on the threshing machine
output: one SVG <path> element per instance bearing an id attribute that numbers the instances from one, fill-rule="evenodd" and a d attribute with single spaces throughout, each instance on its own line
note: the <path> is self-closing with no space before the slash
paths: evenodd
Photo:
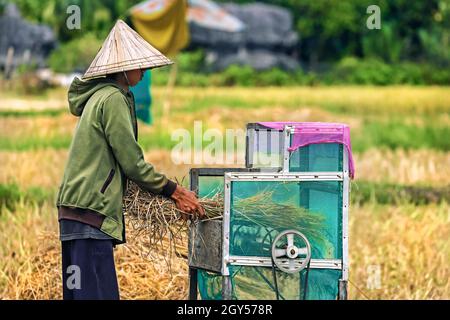
<path id="1" fill-rule="evenodd" d="M 273 239 L 296 229 L 313 259 L 342 257 L 342 182 L 233 181 L 230 254 L 271 256 Z"/>

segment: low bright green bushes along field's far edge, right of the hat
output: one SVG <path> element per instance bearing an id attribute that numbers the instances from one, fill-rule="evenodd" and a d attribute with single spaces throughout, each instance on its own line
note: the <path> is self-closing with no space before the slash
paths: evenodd
<path id="1" fill-rule="evenodd" d="M 295 85 L 425 85 L 450 84 L 450 71 L 431 64 L 400 62 L 388 64 L 381 59 L 358 59 L 347 57 L 323 73 L 304 72 L 301 69 L 287 72 L 278 68 L 256 71 L 250 66 L 231 65 L 222 72 L 205 73 L 200 59 L 190 63 L 199 54 L 179 55 L 176 85 L 184 87 L 207 86 L 295 86 Z M 170 68 L 152 71 L 153 85 L 167 85 Z"/>

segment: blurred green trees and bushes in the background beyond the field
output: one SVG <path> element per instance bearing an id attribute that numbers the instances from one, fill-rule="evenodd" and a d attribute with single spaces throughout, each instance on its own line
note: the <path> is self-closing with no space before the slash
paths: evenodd
<path id="1" fill-rule="evenodd" d="M 381 30 L 366 28 L 367 0 L 260 0 L 291 11 L 299 32 L 300 58 L 308 73 L 281 70 L 256 73 L 231 66 L 207 72 L 201 50 L 179 55 L 177 84 L 182 86 L 277 86 L 327 83 L 449 84 L 450 5 L 448 0 L 381 0 Z M 1 1 L 0 1 L 1 2 Z M 118 18 L 140 0 L 14 0 L 29 20 L 50 25 L 62 45 L 49 64 L 59 72 L 84 70 Z M 219 2 L 229 2 L 220 0 Z M 252 0 L 236 0 L 249 3 Z M 66 27 L 69 5 L 81 8 L 81 30 Z M 352 58 L 355 57 L 355 58 Z M 323 71 L 323 64 L 331 68 Z M 393 65 L 395 64 L 395 65 Z M 169 68 L 155 71 L 153 83 L 165 85 Z M 321 73 L 317 73 L 322 70 Z M 343 78 L 342 78 L 343 76 Z"/>

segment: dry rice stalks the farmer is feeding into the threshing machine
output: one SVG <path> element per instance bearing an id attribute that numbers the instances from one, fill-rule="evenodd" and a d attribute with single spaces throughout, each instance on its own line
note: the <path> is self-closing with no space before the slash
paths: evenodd
<path id="1" fill-rule="evenodd" d="M 264 190 L 255 196 L 237 199 L 233 205 L 236 213 L 234 223 L 242 225 L 250 223 L 269 234 L 274 231 L 274 227 L 277 230 L 295 228 L 315 243 L 320 243 L 320 247 L 326 245 L 324 235 L 321 234 L 324 222 L 322 215 L 311 214 L 307 209 L 291 204 L 275 203 L 272 196 L 273 190 Z M 205 220 L 222 218 L 223 197 L 220 192 L 216 192 L 212 197 L 210 195 L 203 197 L 199 202 L 205 211 Z M 155 251 L 164 252 L 169 271 L 174 256 L 187 258 L 185 244 L 188 223 L 181 219 L 184 212 L 181 212 L 171 199 L 144 191 L 130 181 L 124 198 L 124 207 L 135 236 L 140 237 L 144 245 L 140 249 L 147 257 L 152 258 L 152 252 Z M 259 232 L 258 228 L 253 228 L 253 232 Z M 256 238 L 256 234 L 254 236 Z"/>

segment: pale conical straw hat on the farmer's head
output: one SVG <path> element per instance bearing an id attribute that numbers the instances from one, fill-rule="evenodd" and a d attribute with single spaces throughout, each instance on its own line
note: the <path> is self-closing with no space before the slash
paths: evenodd
<path id="1" fill-rule="evenodd" d="M 135 69 L 157 68 L 172 63 L 125 22 L 118 20 L 83 79 Z"/>

